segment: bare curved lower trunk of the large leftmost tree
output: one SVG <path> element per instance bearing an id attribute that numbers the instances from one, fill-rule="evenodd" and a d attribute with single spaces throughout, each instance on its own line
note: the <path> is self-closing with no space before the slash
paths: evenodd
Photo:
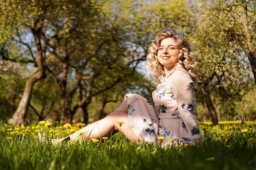
<path id="1" fill-rule="evenodd" d="M 27 108 L 29 106 L 29 102 L 31 98 L 33 85 L 42 77 L 43 77 L 43 73 L 38 71 L 34 73 L 25 84 L 24 92 L 20 100 L 18 109 L 13 114 L 13 123 L 12 123 L 13 126 L 19 126 L 24 123 L 25 115 L 27 113 Z"/>

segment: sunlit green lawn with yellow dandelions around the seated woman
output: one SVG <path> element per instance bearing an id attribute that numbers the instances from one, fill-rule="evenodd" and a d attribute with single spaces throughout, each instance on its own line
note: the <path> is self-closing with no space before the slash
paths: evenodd
<path id="1" fill-rule="evenodd" d="M 202 145 L 168 149 L 152 144 L 139 146 L 120 133 L 99 142 L 65 141 L 55 147 L 40 143 L 31 127 L 14 132 L 14 127 L 0 124 L 0 170 L 256 169 L 255 124 L 200 124 Z"/>

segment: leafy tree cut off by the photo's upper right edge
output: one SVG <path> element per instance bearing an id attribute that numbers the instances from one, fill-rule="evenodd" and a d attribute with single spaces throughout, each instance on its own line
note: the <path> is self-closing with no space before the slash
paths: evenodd
<path id="1" fill-rule="evenodd" d="M 215 17 L 225 23 L 218 31 L 226 33 L 229 41 L 247 54 L 256 84 L 256 3 L 254 0 L 225 0 L 218 1 L 218 5 L 216 12 L 219 14 Z"/>

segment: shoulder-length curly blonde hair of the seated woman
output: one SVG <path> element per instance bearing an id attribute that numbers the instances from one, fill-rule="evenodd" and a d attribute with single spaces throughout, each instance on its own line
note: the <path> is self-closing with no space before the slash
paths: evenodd
<path id="1" fill-rule="evenodd" d="M 164 66 L 157 60 L 158 48 L 161 44 L 161 41 L 165 38 L 173 38 L 177 42 L 177 49 L 180 51 L 177 59 L 178 62 L 175 64 L 182 65 L 186 71 L 189 73 L 193 82 L 196 86 L 201 86 L 202 82 L 200 81 L 200 74 L 198 73 L 199 63 L 195 62 L 195 55 L 191 52 L 189 42 L 180 35 L 175 35 L 172 31 L 164 30 L 158 33 L 158 35 L 151 42 L 152 44 L 148 48 L 147 61 L 148 65 L 146 68 L 152 68 L 152 72 L 149 74 L 153 80 L 157 81 L 159 84 L 160 79 L 164 77 Z M 174 68 L 175 68 L 174 66 Z"/>

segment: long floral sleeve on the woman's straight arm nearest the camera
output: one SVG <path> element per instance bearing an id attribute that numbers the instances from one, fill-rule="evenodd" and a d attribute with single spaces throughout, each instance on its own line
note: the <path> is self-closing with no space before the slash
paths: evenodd
<path id="1" fill-rule="evenodd" d="M 198 139 L 202 137 L 196 119 L 196 101 L 193 90 L 193 80 L 183 71 L 177 71 L 173 74 L 173 84 L 171 91 L 177 102 L 178 110 L 183 120 L 182 127 L 186 127 L 188 137 Z"/>

